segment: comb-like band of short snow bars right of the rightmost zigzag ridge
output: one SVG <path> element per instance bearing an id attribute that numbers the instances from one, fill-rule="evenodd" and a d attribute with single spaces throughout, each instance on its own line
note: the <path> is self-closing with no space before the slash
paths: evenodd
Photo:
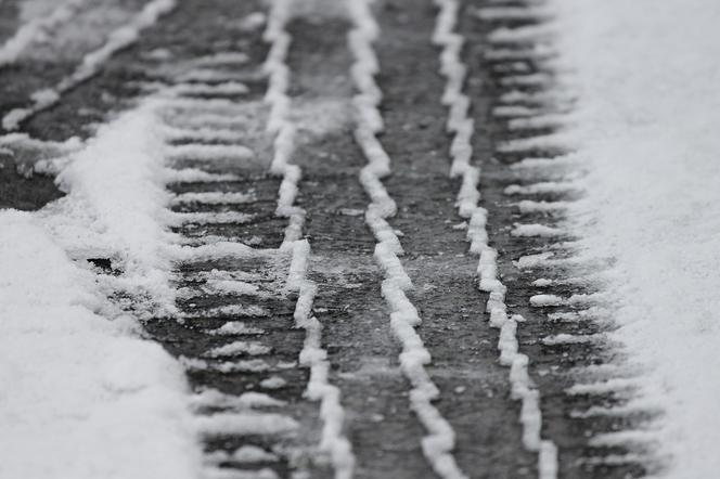
<path id="1" fill-rule="evenodd" d="M 560 448 L 561 476 L 644 476 L 652 445 L 642 445 L 642 429 L 655 412 L 633 401 L 628 383 L 638 372 L 604 339 L 613 327 L 601 287 L 605 266 L 577 259 L 564 224 L 567 204 L 582 194 L 582 170 L 562 130 L 574 98 L 556 69 L 552 12 L 541 1 L 466 12 L 467 57 L 477 59 L 471 75 L 484 85 L 468 92 L 492 96 L 476 102 L 474 114 L 490 133 L 475 147 L 497 158 L 481 179 L 485 202 L 494 206 L 490 241 L 501 251 L 507 302 L 526 320 L 517 335 L 543 391 L 543 435 Z M 513 226 L 502 233 L 505 224 Z"/>

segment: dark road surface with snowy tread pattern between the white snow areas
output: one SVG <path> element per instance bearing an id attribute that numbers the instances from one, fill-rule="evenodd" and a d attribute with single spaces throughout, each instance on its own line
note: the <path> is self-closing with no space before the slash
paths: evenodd
<path id="1" fill-rule="evenodd" d="M 564 221 L 580 192 L 547 167 L 573 98 L 542 2 L 269 3 L 179 2 L 81 78 L 91 40 L 0 70 L 7 129 L 41 140 L 8 166 L 159 99 L 195 253 L 144 326 L 187 367 L 208 477 L 647 474 L 604 266 L 574 260 Z M 62 196 L 0 181 L 3 207 Z"/>

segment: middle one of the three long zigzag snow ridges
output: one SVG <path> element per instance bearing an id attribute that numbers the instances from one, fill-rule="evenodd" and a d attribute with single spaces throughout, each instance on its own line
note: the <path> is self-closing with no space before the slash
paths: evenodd
<path id="1" fill-rule="evenodd" d="M 360 172 L 360 182 L 371 198 L 365 222 L 377 239 L 374 256 L 385 272 L 382 292 L 391 310 L 393 331 L 402 344 L 400 367 L 412 384 L 411 407 L 428 432 L 422 439 L 423 454 L 438 476 L 464 479 L 467 476 L 460 470 L 451 453 L 455 442 L 454 431 L 433 405 L 439 390 L 425 370 L 425 364 L 429 364 L 432 358 L 414 329 L 421 319 L 406 295 L 413 285 L 398 258 L 403 253 L 400 241 L 386 220 L 395 215 L 396 204 L 381 181 L 390 172 L 390 159 L 376 138 L 383 130 L 383 119 L 377 108 L 382 92 L 374 80 L 380 65 L 372 43 L 380 35 L 380 28 L 371 12 L 371 2 L 357 0 L 347 3 L 355 24 L 348 36 L 355 55 L 351 75 L 358 90 L 353 98 L 358 116 L 355 138 L 369 161 Z"/>

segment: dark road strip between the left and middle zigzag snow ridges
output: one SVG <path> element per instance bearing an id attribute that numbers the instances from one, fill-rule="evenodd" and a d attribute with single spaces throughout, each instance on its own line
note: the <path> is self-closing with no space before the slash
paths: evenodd
<path id="1" fill-rule="evenodd" d="M 295 163 L 301 165 L 298 203 L 313 245 L 309 275 L 319 286 L 314 314 L 323 324 L 331 380 L 343 391 L 356 477 L 433 477 L 422 456 L 422 427 L 407 406 L 407 383 L 388 334 L 381 276 L 367 229 L 358 181 L 365 159 L 352 139 L 353 88 L 347 72 L 350 28 L 345 2 L 305 4 L 288 29 L 295 38 Z"/>

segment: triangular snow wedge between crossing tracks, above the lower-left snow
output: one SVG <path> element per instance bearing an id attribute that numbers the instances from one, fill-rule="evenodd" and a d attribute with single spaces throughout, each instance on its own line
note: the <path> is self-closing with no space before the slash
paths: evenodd
<path id="1" fill-rule="evenodd" d="M 169 194 L 156 106 L 147 102 L 101 127 L 57 176 L 69 194 L 39 213 L 72 257 L 111 258 L 124 274 L 103 281 L 152 298 L 137 305 L 146 315 L 175 309 L 166 251 L 175 236 L 165 228 Z"/>

